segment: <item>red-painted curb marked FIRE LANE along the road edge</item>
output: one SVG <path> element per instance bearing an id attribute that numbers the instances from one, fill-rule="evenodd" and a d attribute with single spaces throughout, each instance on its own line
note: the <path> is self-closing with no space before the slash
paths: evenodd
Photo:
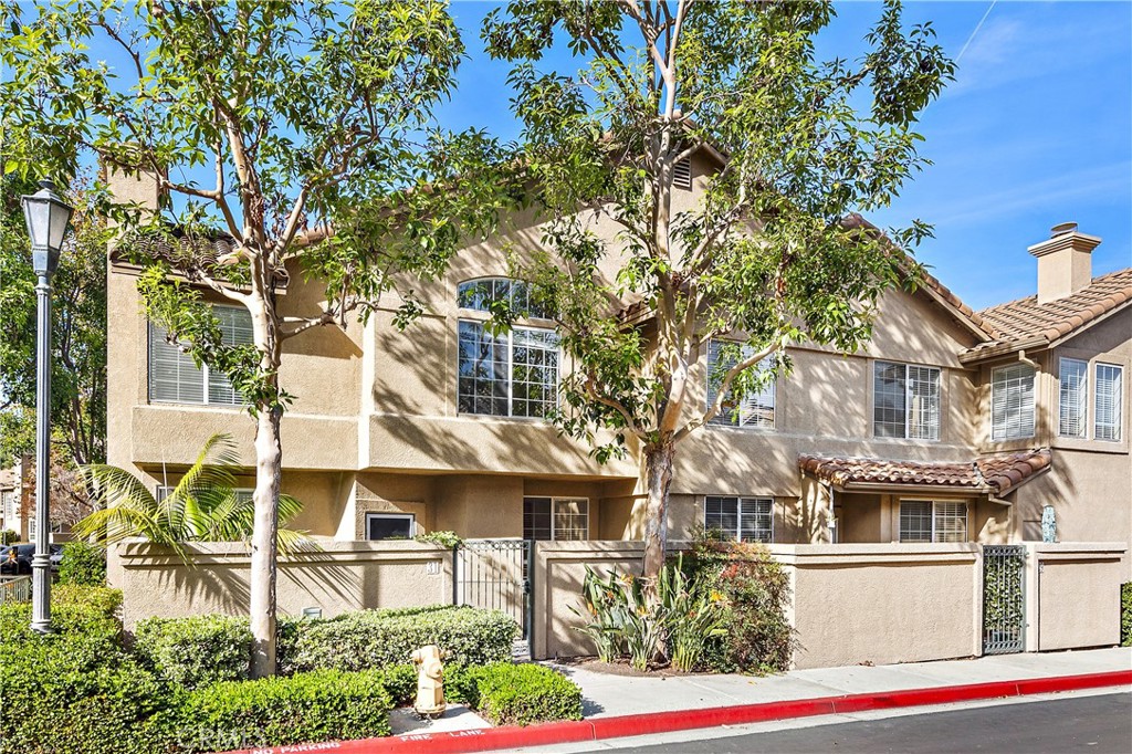
<path id="1" fill-rule="evenodd" d="M 701 710 L 627 714 L 576 722 L 547 722 L 526 728 L 506 726 L 501 728 L 480 728 L 477 730 L 457 730 L 440 734 L 406 734 L 404 736 L 368 738 L 365 740 L 295 744 L 293 746 L 241 749 L 225 754 L 302 754 L 306 752 L 381 754 L 385 752 L 420 751 L 428 751 L 429 754 L 462 754 L 463 752 L 488 752 L 523 746 L 544 746 L 582 740 L 600 740 L 602 738 L 643 736 L 694 728 L 736 726 L 748 722 L 787 720 L 818 714 L 947 704 L 980 699 L 1026 696 L 1027 694 L 1049 694 L 1053 692 L 1127 685 L 1132 685 L 1132 670 L 1116 670 L 1113 672 L 1092 672 L 1053 678 L 1000 680 L 961 686 L 941 686 L 938 688 L 910 688 L 875 694 L 847 694 L 844 696 L 821 696 L 817 699 L 714 706 Z"/>

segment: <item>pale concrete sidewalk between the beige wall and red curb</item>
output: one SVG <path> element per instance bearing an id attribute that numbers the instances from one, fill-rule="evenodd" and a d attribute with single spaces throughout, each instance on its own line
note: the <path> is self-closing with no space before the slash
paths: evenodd
<path id="1" fill-rule="evenodd" d="M 780 676 L 628 677 L 554 666 L 582 687 L 588 719 L 738 704 L 1132 670 L 1132 648 L 1027 652 L 971 660 L 791 670 Z"/>

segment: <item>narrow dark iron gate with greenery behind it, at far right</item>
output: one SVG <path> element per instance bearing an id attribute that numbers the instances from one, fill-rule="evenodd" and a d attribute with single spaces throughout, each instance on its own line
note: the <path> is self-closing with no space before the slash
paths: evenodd
<path id="1" fill-rule="evenodd" d="M 1021 652 L 1026 641 L 1024 545 L 983 546 L 983 653 Z"/>

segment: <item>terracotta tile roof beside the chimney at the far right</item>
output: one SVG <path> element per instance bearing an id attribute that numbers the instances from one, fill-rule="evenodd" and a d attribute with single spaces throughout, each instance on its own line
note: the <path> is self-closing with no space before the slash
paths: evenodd
<path id="1" fill-rule="evenodd" d="M 1029 295 L 1000 303 L 979 312 L 997 340 L 980 343 L 966 353 L 977 355 L 1011 343 L 1053 343 L 1129 301 L 1132 301 L 1132 267 L 1094 277 L 1077 293 L 1056 301 L 1038 303 L 1037 295 Z"/>

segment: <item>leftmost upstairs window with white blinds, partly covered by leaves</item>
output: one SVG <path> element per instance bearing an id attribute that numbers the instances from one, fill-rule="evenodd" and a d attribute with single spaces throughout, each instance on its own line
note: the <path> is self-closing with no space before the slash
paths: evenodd
<path id="1" fill-rule="evenodd" d="M 226 345 L 252 343 L 251 315 L 243 307 L 213 305 Z M 156 403 L 200 403 L 240 405 L 243 399 L 225 375 L 213 372 L 208 365 L 199 369 L 192 357 L 166 340 L 166 331 L 149 323 L 149 401 Z"/>

